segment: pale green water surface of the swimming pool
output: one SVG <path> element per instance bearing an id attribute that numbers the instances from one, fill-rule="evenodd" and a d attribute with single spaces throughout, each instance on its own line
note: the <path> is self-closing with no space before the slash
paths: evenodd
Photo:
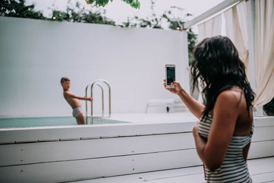
<path id="1" fill-rule="evenodd" d="M 90 119 L 88 119 L 90 123 Z M 93 119 L 94 124 L 127 123 L 125 121 L 114 121 L 111 119 Z M 34 127 L 55 125 L 77 125 L 74 117 L 10 117 L 0 118 L 0 127 Z"/>

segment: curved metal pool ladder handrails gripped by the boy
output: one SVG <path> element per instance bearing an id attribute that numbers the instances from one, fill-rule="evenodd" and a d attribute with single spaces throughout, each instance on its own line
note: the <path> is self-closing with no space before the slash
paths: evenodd
<path id="1" fill-rule="evenodd" d="M 103 87 L 101 86 L 101 84 L 105 84 L 106 86 L 108 86 L 108 100 L 109 100 L 109 114 L 108 117 L 110 117 L 111 114 L 111 108 L 110 108 L 110 84 L 108 84 L 107 81 L 105 80 L 96 80 L 95 82 L 93 82 L 92 84 L 88 84 L 86 86 L 86 97 L 88 96 L 88 87 L 90 86 L 90 97 L 92 97 L 92 89 L 93 86 L 97 85 L 101 88 L 101 93 L 102 93 L 102 116 L 104 116 L 104 105 L 103 105 Z M 90 124 L 93 124 L 93 119 L 95 117 L 93 117 L 93 105 L 92 105 L 92 101 L 90 102 Z M 86 124 L 88 124 L 88 101 L 86 101 Z"/>

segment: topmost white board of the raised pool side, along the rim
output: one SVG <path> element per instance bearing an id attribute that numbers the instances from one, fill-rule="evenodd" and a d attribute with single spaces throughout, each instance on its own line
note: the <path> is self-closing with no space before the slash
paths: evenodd
<path id="1" fill-rule="evenodd" d="M 71 138 L 100 138 L 192 132 L 195 122 L 153 124 L 108 124 L 64 127 L 0 129 L 0 144 L 29 141 L 58 141 Z"/>

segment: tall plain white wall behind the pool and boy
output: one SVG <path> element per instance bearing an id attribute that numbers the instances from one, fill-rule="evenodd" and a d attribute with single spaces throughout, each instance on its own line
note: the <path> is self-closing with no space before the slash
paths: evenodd
<path id="1" fill-rule="evenodd" d="M 71 115 L 63 76 L 81 96 L 86 84 L 105 79 L 112 113 L 144 112 L 148 99 L 176 97 L 162 86 L 166 63 L 176 64 L 177 81 L 189 90 L 186 38 L 162 29 L 0 17 L 0 116 Z M 97 113 L 101 97 L 94 92 Z"/>

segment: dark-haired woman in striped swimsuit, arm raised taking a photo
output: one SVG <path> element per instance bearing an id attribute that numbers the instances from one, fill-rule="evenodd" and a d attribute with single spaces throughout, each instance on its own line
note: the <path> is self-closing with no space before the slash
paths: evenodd
<path id="1" fill-rule="evenodd" d="M 205 105 L 178 82 L 166 88 L 179 95 L 199 119 L 192 134 L 207 182 L 252 182 L 247 154 L 253 134 L 254 93 L 247 81 L 245 65 L 229 38 L 215 36 L 199 42 L 193 51 L 193 87 L 201 80 Z"/>

